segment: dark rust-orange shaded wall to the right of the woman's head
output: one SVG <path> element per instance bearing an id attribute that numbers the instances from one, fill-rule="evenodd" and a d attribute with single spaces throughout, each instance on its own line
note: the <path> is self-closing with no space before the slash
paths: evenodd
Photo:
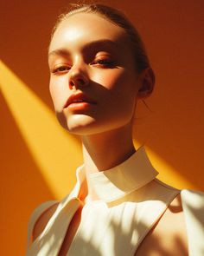
<path id="1" fill-rule="evenodd" d="M 143 33 L 156 88 L 147 99 L 151 112 L 138 106 L 134 135 L 191 181 L 192 188 L 203 190 L 204 2 L 141 5 L 131 10 L 132 20 Z M 163 173 L 159 163 L 154 165 Z"/>

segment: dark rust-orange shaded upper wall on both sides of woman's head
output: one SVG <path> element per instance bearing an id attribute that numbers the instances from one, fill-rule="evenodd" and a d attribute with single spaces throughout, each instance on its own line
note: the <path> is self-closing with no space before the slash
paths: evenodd
<path id="1" fill-rule="evenodd" d="M 3 61 L 53 109 L 48 94 L 48 42 L 56 16 L 68 3 L 61 0 L 49 5 L 45 2 L 31 5 L 15 0 L 1 4 Z M 129 6 L 113 0 L 111 4 L 130 14 L 156 71 L 156 89 L 147 99 L 152 113 L 140 104 L 134 128 L 136 140 L 192 182 L 192 188 L 203 190 L 204 58 L 201 56 L 204 56 L 204 36 L 201 29 L 204 3 L 201 0 L 185 4 L 137 2 Z M 159 163 L 153 164 L 163 174 Z M 161 177 L 179 187 L 171 179 Z"/>

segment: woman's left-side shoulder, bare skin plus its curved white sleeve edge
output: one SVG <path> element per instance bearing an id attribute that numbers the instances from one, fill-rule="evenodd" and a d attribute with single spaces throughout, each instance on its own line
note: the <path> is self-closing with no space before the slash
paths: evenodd
<path id="1" fill-rule="evenodd" d="M 49 200 L 35 208 L 29 218 L 28 247 L 41 234 L 58 205 L 59 201 Z"/>

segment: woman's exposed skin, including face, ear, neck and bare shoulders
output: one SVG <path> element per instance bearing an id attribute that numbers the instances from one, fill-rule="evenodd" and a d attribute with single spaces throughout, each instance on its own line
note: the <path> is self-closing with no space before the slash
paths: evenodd
<path id="1" fill-rule="evenodd" d="M 86 173 L 103 171 L 125 161 L 135 151 L 131 119 L 137 99 L 150 95 L 154 75 L 150 69 L 137 74 L 124 30 L 96 14 L 70 16 L 54 33 L 48 62 L 50 93 L 56 115 L 64 128 L 80 135 Z M 86 98 L 84 103 L 75 102 L 65 108 L 70 95 L 79 93 L 91 98 L 91 103 Z M 80 189 L 79 197 L 85 204 L 99 199 L 89 184 L 87 178 Z M 48 223 L 54 207 L 37 221 L 34 239 Z M 81 209 L 73 216 L 61 255 L 67 254 L 80 225 L 80 214 Z M 163 214 L 162 221 L 153 226 L 137 255 L 147 255 L 149 248 L 154 255 L 161 255 L 161 248 L 169 255 L 178 255 L 175 252 L 179 246 L 187 247 L 183 220 L 178 196 Z M 172 223 L 181 226 L 175 225 L 173 230 Z M 184 247 L 181 250 L 184 251 Z"/>

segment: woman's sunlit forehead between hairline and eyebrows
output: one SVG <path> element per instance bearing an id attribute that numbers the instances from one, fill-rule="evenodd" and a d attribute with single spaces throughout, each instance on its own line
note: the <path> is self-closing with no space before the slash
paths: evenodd
<path id="1" fill-rule="evenodd" d="M 67 43 L 83 44 L 103 40 L 124 44 L 127 43 L 127 37 L 122 28 L 98 14 L 77 13 L 59 24 L 49 49 L 65 47 Z"/>

